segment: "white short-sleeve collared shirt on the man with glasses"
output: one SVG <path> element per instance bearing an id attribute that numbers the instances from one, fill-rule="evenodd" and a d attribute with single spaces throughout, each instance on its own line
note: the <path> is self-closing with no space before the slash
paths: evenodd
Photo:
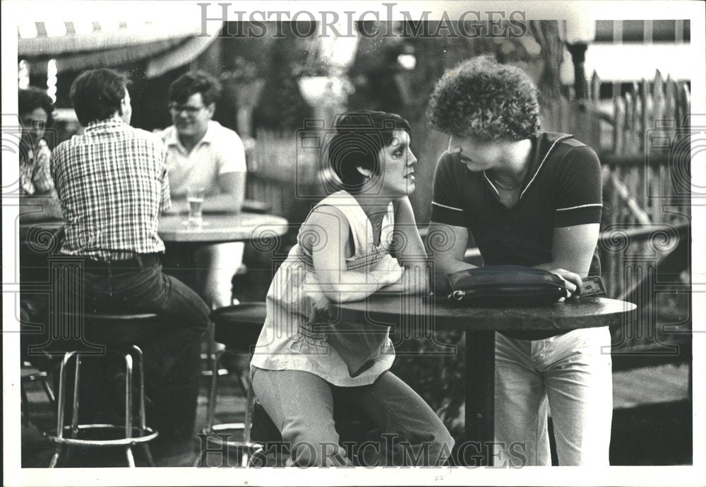
<path id="1" fill-rule="evenodd" d="M 218 190 L 218 177 L 227 172 L 246 172 L 245 148 L 238 134 L 210 120 L 203 139 L 187 153 L 172 125 L 160 133 L 167 146 L 167 171 L 172 197 L 186 196 L 189 187 L 203 187 L 206 194 Z"/>

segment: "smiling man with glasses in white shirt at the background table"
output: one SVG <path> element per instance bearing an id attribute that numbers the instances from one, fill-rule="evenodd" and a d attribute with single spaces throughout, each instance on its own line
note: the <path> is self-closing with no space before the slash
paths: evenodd
<path id="1" fill-rule="evenodd" d="M 211 118 L 220 85 L 203 71 L 189 71 L 169 86 L 171 127 L 160 132 L 167 146 L 167 170 L 172 207 L 188 211 L 186 192 L 205 189 L 204 211 L 238 213 L 245 196 L 245 150 L 234 131 Z M 231 304 L 231 279 L 243 257 L 243 242 L 208 245 L 196 254 L 200 269 L 208 269 L 200 289 L 212 307 Z"/>

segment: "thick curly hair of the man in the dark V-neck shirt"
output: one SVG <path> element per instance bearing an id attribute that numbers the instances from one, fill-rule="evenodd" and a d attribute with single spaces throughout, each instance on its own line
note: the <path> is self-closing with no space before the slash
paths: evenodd
<path id="1" fill-rule="evenodd" d="M 539 90 L 515 66 L 482 56 L 446 71 L 427 115 L 431 127 L 457 137 L 520 141 L 539 130 Z"/>

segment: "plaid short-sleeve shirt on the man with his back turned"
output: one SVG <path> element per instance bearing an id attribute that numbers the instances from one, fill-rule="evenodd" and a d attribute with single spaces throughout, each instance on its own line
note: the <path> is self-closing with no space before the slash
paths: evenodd
<path id="1" fill-rule="evenodd" d="M 66 221 L 61 252 L 100 261 L 164 252 L 157 216 L 171 206 L 160 139 L 119 118 L 92 122 L 54 149 Z"/>

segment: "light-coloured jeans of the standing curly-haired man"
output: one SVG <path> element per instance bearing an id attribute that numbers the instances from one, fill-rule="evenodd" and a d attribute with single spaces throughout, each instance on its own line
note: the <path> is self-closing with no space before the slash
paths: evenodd
<path id="1" fill-rule="evenodd" d="M 610 344 L 607 327 L 533 341 L 496 334 L 495 437 L 504 448 L 496 464 L 518 466 L 522 452 L 526 465 L 551 465 L 549 407 L 559 465 L 609 465 Z"/>

